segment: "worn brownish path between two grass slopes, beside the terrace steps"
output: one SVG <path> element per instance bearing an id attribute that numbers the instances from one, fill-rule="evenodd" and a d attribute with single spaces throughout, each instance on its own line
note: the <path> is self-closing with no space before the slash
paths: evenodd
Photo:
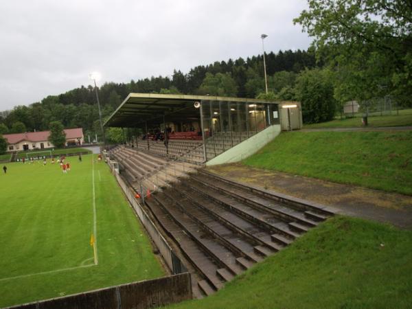
<path id="1" fill-rule="evenodd" d="M 250 168 L 241 164 L 216 165 L 207 170 L 244 183 L 264 187 L 266 190 L 330 205 L 338 209 L 339 214 L 387 222 L 405 229 L 412 229 L 412 196 Z"/>

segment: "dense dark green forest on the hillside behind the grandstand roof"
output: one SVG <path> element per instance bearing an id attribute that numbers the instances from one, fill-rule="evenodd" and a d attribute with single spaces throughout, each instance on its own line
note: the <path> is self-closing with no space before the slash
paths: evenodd
<path id="1" fill-rule="evenodd" d="M 292 87 L 297 74 L 313 68 L 316 60 L 310 51 L 285 51 L 266 54 L 268 87 L 278 93 Z M 188 73 L 179 70 L 172 78 L 158 76 L 129 83 L 108 82 L 99 89 L 102 115 L 108 117 L 128 93 L 185 93 L 231 95 L 255 98 L 264 91 L 262 55 L 244 60 L 227 60 L 199 65 Z M 0 113 L 0 134 L 48 130 L 50 122 L 60 121 L 65 128 L 82 127 L 87 134 L 100 132 L 98 108 L 93 87 L 80 87 L 60 95 L 49 95 L 30 106 L 16 106 Z"/>

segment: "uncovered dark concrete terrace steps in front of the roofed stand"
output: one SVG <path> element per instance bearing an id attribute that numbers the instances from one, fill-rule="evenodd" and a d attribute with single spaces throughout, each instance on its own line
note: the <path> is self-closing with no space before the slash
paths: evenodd
<path id="1" fill-rule="evenodd" d="M 205 170 L 152 194 L 146 206 L 198 271 L 204 295 L 332 216 Z"/>

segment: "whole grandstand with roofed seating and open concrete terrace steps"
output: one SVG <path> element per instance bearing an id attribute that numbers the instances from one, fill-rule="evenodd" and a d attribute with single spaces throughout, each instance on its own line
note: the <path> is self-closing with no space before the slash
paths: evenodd
<path id="1" fill-rule="evenodd" d="M 240 158 L 257 151 L 279 133 L 277 115 L 277 102 L 265 100 L 130 93 L 105 123 L 143 131 L 106 157 L 192 273 L 194 297 L 211 295 L 333 215 L 203 168 L 233 159 L 233 149 Z"/>

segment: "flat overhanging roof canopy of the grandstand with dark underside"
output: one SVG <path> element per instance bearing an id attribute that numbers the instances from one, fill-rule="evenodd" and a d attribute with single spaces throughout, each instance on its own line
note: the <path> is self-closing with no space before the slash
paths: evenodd
<path id="1" fill-rule="evenodd" d="M 106 120 L 104 126 L 119 128 L 143 127 L 168 122 L 198 120 L 199 109 L 194 102 L 236 102 L 242 104 L 278 104 L 268 100 L 215 97 L 209 95 L 171 95 L 157 93 L 130 93 Z"/>

